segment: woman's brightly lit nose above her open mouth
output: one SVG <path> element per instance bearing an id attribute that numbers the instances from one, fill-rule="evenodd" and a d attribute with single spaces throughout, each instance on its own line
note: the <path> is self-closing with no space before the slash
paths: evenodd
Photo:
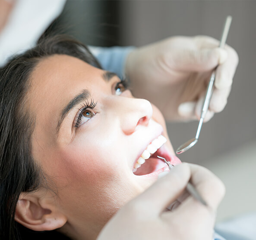
<path id="1" fill-rule="evenodd" d="M 149 101 L 139 98 L 124 98 L 122 102 L 120 126 L 124 134 L 130 135 L 139 126 L 148 126 L 153 112 Z"/>

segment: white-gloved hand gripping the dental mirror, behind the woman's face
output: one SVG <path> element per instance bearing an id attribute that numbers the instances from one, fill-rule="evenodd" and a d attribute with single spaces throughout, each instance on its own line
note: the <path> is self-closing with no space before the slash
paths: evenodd
<path id="1" fill-rule="evenodd" d="M 238 64 L 234 49 L 218 45 L 206 36 L 170 37 L 135 49 L 126 61 L 133 95 L 149 99 L 167 120 L 199 119 L 209 77 L 219 65 L 208 121 L 227 104 Z"/>

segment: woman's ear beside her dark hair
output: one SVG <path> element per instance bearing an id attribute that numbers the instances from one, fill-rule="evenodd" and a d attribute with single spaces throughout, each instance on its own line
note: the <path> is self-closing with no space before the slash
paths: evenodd
<path id="1" fill-rule="evenodd" d="M 45 189 L 20 194 L 16 205 L 16 222 L 34 231 L 51 231 L 62 227 L 67 218 L 57 206 L 55 197 Z"/>

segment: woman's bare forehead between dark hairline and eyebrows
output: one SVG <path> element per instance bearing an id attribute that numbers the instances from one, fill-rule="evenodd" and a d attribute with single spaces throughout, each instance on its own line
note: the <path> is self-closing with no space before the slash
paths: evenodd
<path id="1" fill-rule="evenodd" d="M 29 108 L 36 117 L 35 128 L 51 136 L 64 106 L 82 89 L 100 87 L 103 71 L 79 58 L 52 55 L 42 59 L 31 74 L 28 91 Z M 40 130 L 41 129 L 41 130 Z"/>

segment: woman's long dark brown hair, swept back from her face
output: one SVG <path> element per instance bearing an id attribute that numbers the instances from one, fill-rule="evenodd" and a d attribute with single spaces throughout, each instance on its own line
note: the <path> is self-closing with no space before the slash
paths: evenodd
<path id="1" fill-rule="evenodd" d="M 46 176 L 33 160 L 31 152 L 35 117 L 27 110 L 26 93 L 35 66 L 42 58 L 54 54 L 71 55 L 101 68 L 86 46 L 63 35 L 42 37 L 34 48 L 15 56 L 0 68 L 1 240 L 40 239 L 41 236 L 39 233 L 33 235 L 33 231 L 20 226 L 14 216 L 19 195 L 36 191 L 47 183 Z"/>

